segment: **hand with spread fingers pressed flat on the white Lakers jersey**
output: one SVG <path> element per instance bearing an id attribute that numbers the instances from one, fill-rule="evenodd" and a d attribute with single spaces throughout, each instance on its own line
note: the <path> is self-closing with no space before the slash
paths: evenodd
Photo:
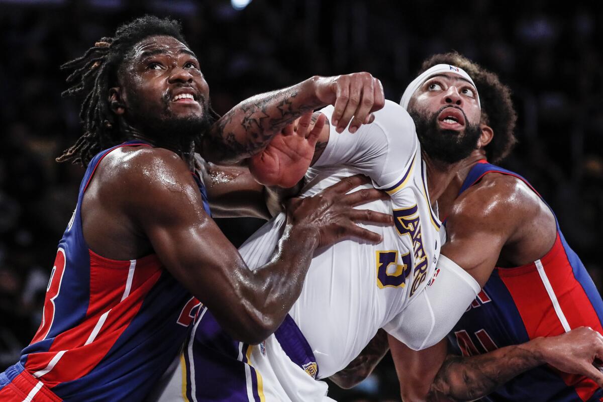
<path id="1" fill-rule="evenodd" d="M 287 205 L 287 220 L 294 226 L 314 230 L 318 236 L 317 248 L 332 245 L 350 236 L 380 242 L 380 234 L 361 228 L 356 222 L 393 225 L 393 216 L 353 207 L 377 199 L 387 199 L 387 193 L 376 189 L 362 189 L 347 194 L 353 188 L 367 183 L 370 183 L 368 177 L 355 175 L 344 178 L 316 195 L 292 198 Z"/>

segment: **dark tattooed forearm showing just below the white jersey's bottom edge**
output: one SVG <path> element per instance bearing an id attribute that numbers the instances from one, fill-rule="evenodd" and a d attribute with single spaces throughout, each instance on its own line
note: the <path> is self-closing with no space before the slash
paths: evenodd
<path id="1" fill-rule="evenodd" d="M 352 360 L 343 370 L 331 375 L 329 379 L 341 388 L 352 388 L 373 372 L 388 350 L 390 350 L 390 345 L 387 333 L 380 329 L 356 359 Z"/>

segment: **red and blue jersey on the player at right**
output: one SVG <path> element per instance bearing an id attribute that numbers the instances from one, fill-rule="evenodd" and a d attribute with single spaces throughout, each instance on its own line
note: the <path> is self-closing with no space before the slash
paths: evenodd
<path id="1" fill-rule="evenodd" d="M 478 163 L 459 192 L 494 172 L 525 178 L 489 163 Z M 535 193 L 537 193 L 534 190 Z M 538 194 L 538 193 L 537 193 Z M 603 333 L 603 301 L 582 262 L 567 245 L 557 222 L 555 244 L 540 260 L 516 268 L 495 268 L 482 292 L 449 334 L 464 356 L 555 336 L 576 327 Z M 595 382 L 551 366 L 531 369 L 484 398 L 488 401 L 603 401 Z"/>

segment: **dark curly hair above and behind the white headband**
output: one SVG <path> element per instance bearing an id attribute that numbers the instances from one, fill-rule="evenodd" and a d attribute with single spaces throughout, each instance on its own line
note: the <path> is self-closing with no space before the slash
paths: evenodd
<path id="1" fill-rule="evenodd" d="M 436 64 L 452 64 L 469 74 L 478 89 L 482 105 L 481 122 L 494 131 L 494 137 L 485 146 L 486 157 L 492 163 L 505 159 L 517 139 L 514 134 L 517 113 L 511 101 L 511 90 L 500 83 L 498 76 L 464 57 L 458 52 L 440 53 L 421 64 L 420 73 Z"/>

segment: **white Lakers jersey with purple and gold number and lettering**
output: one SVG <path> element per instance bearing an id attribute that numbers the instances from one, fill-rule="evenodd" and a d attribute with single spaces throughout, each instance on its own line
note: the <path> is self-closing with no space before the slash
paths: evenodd
<path id="1" fill-rule="evenodd" d="M 332 111 L 321 110 L 329 120 Z M 365 225 L 382 234 L 379 244 L 343 240 L 315 253 L 290 315 L 314 352 L 320 378 L 346 367 L 379 328 L 397 336 L 403 310 L 426 286 L 440 254 L 444 228 L 431 209 L 414 122 L 390 101 L 374 115 L 354 134 L 331 127 L 328 145 L 306 174 L 303 196 L 343 177 L 368 175 L 391 199 L 360 208 L 392 213 L 396 222 Z M 241 247 L 251 269 L 270 260 L 284 224 L 285 216 L 276 216 Z"/>

